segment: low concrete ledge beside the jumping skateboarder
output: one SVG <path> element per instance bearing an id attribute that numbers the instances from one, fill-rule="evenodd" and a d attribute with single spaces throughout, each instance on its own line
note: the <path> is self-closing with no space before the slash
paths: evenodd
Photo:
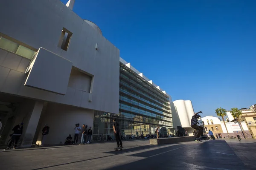
<path id="1" fill-rule="evenodd" d="M 150 144 L 172 144 L 172 143 L 190 142 L 190 141 L 195 141 L 195 136 L 149 139 Z"/>

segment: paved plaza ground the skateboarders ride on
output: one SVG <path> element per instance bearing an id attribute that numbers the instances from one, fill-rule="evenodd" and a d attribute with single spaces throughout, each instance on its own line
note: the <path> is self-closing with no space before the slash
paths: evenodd
<path id="1" fill-rule="evenodd" d="M 3 170 L 255 170 L 256 140 L 236 139 L 150 145 L 149 141 L 6 150 Z"/>

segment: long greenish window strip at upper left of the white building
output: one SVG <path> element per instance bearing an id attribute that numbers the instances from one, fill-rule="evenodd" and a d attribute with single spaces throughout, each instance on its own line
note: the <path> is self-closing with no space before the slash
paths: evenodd
<path id="1" fill-rule="evenodd" d="M 26 48 L 16 42 L 13 42 L 11 40 L 8 40 L 4 37 L 0 37 L 0 48 L 5 49 L 6 51 L 13 52 L 15 54 L 18 54 L 22 57 L 26 57 L 28 59 L 32 59 L 32 57 L 35 55 L 35 51 Z"/>

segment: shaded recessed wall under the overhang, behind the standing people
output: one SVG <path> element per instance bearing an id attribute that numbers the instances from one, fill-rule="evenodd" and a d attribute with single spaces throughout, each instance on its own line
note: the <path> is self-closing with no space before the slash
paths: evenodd
<path id="1" fill-rule="evenodd" d="M 85 124 L 89 129 L 90 126 L 93 128 L 93 119 L 94 111 L 92 110 L 49 103 L 39 120 L 40 128 L 38 128 L 39 134 L 36 143 L 41 144 L 42 129 L 45 124 L 50 127 L 45 144 L 60 144 L 60 142 L 64 144 L 69 134 L 74 139 L 74 128 L 77 123 L 80 124 L 80 127 Z"/>

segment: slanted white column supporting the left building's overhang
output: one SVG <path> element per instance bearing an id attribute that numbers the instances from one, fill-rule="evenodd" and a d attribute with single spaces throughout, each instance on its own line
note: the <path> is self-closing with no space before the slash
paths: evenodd
<path id="1" fill-rule="evenodd" d="M 38 101 L 35 102 L 26 131 L 25 132 L 23 131 L 24 137 L 21 143 L 22 147 L 31 147 L 43 106 L 44 106 L 44 102 L 38 102 Z"/>

